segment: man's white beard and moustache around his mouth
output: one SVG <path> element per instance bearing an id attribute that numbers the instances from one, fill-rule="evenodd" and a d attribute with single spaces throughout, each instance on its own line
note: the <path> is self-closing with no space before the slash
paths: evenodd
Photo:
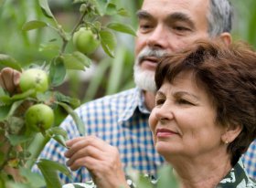
<path id="1" fill-rule="evenodd" d="M 133 66 L 133 78 L 135 85 L 139 89 L 144 89 L 146 91 L 155 92 L 155 71 L 142 69 L 140 67 L 140 61 L 144 57 L 164 57 L 166 54 L 165 50 L 163 49 L 152 49 L 150 47 L 145 47 L 138 57 L 136 57 L 134 66 Z"/>

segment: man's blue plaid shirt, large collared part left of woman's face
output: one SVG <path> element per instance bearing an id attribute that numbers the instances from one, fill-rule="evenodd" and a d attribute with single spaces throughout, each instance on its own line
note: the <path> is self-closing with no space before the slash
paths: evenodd
<path id="1" fill-rule="evenodd" d="M 140 89 L 129 89 L 111 96 L 85 103 L 76 110 L 89 135 L 96 135 L 121 154 L 125 169 L 156 174 L 164 159 L 155 151 L 152 133 L 148 126 L 149 111 L 144 107 Z M 70 116 L 60 125 L 68 132 L 69 139 L 80 136 Z M 50 140 L 39 158 L 65 164 L 66 149 L 57 141 Z M 36 165 L 33 168 L 37 171 Z M 62 183 L 85 183 L 91 179 L 85 168 L 72 172 L 72 180 L 59 174 Z"/>

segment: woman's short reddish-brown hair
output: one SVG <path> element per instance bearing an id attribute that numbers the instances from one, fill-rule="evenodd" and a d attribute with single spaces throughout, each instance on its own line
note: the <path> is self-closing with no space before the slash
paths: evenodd
<path id="1" fill-rule="evenodd" d="M 228 146 L 233 166 L 256 138 L 256 53 L 243 42 L 227 46 L 221 41 L 198 40 L 160 61 L 155 72 L 156 88 L 187 70 L 213 99 L 217 122 L 242 127 Z"/>

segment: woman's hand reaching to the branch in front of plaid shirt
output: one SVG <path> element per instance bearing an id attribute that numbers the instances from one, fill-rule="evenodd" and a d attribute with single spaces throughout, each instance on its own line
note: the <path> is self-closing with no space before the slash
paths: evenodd
<path id="1" fill-rule="evenodd" d="M 65 156 L 71 170 L 86 167 L 100 188 L 128 187 L 117 148 L 95 136 L 67 141 L 67 146 Z"/>

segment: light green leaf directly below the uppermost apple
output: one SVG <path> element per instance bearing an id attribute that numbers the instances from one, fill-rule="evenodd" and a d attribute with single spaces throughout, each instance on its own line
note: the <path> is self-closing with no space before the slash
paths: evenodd
<path id="1" fill-rule="evenodd" d="M 64 54 L 63 60 L 67 69 L 84 70 L 91 65 L 91 59 L 79 51 L 72 54 Z"/>

